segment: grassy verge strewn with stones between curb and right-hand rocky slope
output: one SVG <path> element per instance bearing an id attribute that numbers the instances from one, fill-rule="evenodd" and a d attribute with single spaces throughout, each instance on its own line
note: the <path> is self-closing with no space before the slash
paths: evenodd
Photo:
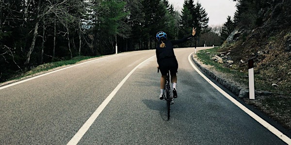
<path id="1" fill-rule="evenodd" d="M 215 55 L 220 55 L 220 48 L 200 50 L 197 53 L 197 58 L 205 65 L 210 65 L 217 73 L 223 73 L 228 79 L 248 86 L 248 72 L 245 68 L 240 68 L 238 65 L 228 65 L 226 63 L 218 63 L 212 59 Z M 278 89 L 265 83 L 263 76 L 255 72 L 255 89 L 260 91 L 272 92 L 268 96 L 256 96 L 255 100 L 243 98 L 242 100 L 250 105 L 255 106 L 261 112 L 270 116 L 282 126 L 291 130 L 291 95 L 287 93 L 289 90 L 284 90 L 284 87 Z M 288 89 L 288 88 L 287 88 Z"/>

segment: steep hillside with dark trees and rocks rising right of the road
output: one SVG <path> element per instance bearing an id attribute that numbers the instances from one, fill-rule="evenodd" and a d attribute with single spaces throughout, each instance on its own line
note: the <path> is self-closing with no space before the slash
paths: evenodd
<path id="1" fill-rule="evenodd" d="M 235 28 L 219 52 L 229 53 L 227 59 L 234 62 L 231 68 L 242 72 L 247 72 L 247 62 L 253 59 L 255 78 L 263 82 L 260 88 L 290 96 L 291 0 L 237 2 Z"/>

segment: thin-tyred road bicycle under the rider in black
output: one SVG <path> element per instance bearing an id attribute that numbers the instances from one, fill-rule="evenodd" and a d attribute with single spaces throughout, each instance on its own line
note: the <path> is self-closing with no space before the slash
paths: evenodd
<path id="1" fill-rule="evenodd" d="M 159 73 L 159 69 L 158 69 L 158 73 Z M 171 85 L 170 85 L 170 71 L 169 70 L 167 71 L 164 96 L 165 96 L 164 100 L 167 103 L 167 113 L 168 113 L 168 120 L 169 120 L 170 119 L 171 105 L 174 104 L 173 91 L 172 91 Z"/>

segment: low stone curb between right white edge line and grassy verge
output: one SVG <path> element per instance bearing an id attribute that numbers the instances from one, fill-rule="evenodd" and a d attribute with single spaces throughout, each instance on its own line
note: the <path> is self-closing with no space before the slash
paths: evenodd
<path id="1" fill-rule="evenodd" d="M 237 84 L 230 83 L 229 81 L 224 79 L 222 76 L 219 76 L 218 74 L 208 70 L 207 68 L 202 66 L 200 63 L 198 63 L 198 60 L 197 60 L 197 58 L 194 57 L 194 55 L 192 55 L 192 60 L 203 72 L 210 75 L 210 77 L 212 77 L 215 81 L 220 83 L 222 86 L 226 87 L 228 90 L 230 90 L 232 93 L 237 95 L 239 98 L 248 98 L 249 97 L 249 89 L 248 88 L 244 88 L 244 87 L 241 87 Z M 272 95 L 272 92 L 257 91 L 256 90 L 255 96 L 258 96 L 258 95 L 270 96 L 270 95 Z"/>

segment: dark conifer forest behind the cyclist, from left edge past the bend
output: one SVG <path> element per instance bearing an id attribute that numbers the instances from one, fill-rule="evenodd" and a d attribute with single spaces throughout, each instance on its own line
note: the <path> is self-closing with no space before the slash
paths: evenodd
<path id="1" fill-rule="evenodd" d="M 155 49 L 155 34 L 179 39 L 197 28 L 192 42 L 177 47 L 221 45 L 233 21 L 210 28 L 199 1 L 181 12 L 168 0 L 0 0 L 0 82 L 41 64 L 78 56 Z"/>

